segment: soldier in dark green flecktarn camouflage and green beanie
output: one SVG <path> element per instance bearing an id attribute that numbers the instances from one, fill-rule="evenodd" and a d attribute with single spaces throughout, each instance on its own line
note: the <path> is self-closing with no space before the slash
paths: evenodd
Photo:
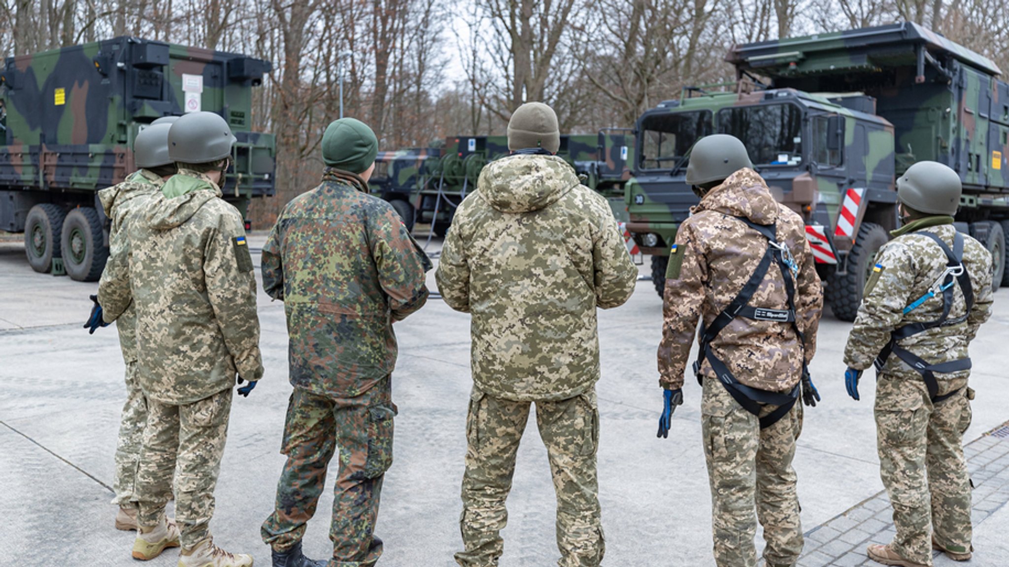
<path id="1" fill-rule="evenodd" d="M 263 290 L 284 303 L 294 392 L 276 506 L 262 525 L 274 567 L 324 565 L 302 554 L 326 468 L 339 449 L 331 565 L 374 565 L 372 536 L 393 463 L 393 324 L 428 299 L 427 255 L 396 210 L 368 195 L 378 141 L 341 118 L 326 128 L 322 184 L 295 198 L 262 249 Z M 334 245 L 339 243 L 339 245 Z"/>

